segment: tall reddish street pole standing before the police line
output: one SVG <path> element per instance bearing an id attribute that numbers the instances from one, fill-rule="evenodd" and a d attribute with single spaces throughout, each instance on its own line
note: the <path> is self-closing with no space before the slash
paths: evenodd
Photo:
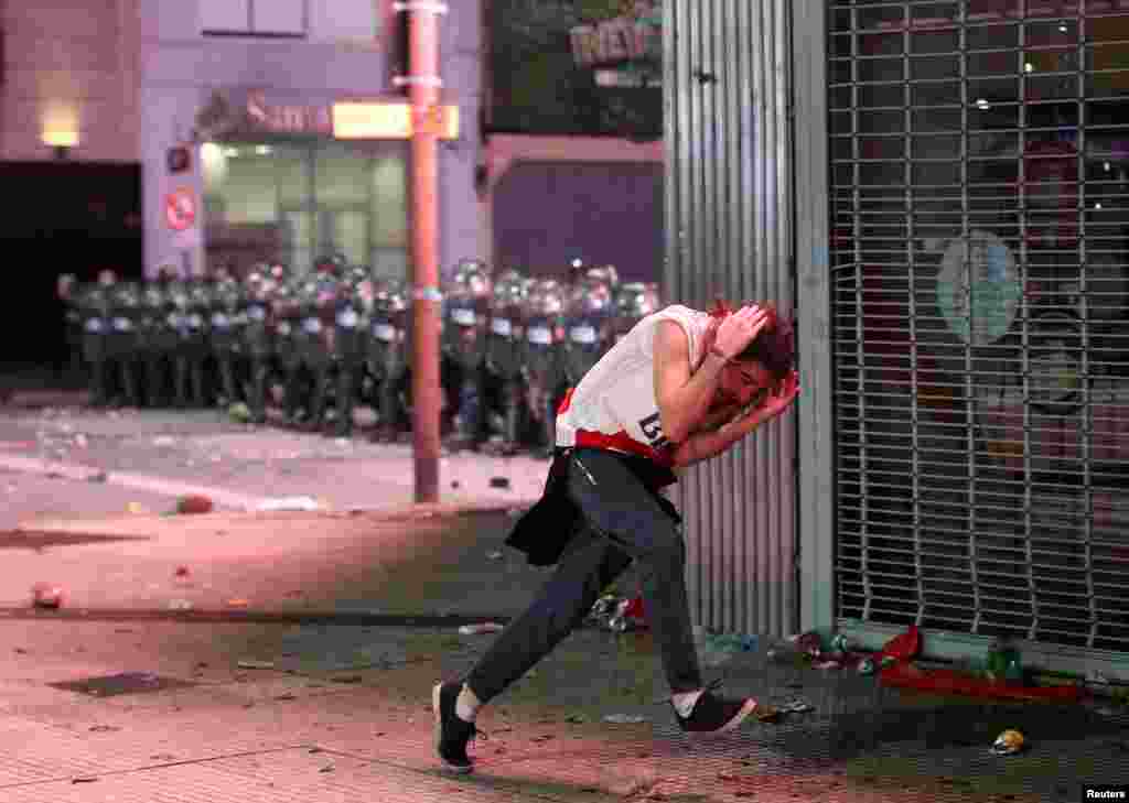
<path id="1" fill-rule="evenodd" d="M 439 20 L 447 6 L 411 0 L 408 12 L 412 105 L 412 451 L 415 501 L 439 501 L 438 140 Z"/>

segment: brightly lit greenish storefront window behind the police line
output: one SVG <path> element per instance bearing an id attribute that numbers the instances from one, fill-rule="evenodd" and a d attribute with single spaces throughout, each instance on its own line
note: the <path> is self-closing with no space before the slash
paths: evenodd
<path id="1" fill-rule="evenodd" d="M 202 153 L 209 259 L 279 259 L 298 272 L 326 254 L 406 275 L 406 164 L 399 143 L 209 143 Z"/>

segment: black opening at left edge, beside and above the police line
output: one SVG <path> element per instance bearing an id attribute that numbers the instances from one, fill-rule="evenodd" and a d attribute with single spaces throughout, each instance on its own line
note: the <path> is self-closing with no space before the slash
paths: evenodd
<path id="1" fill-rule="evenodd" d="M 0 316 L 0 390 L 62 382 L 68 348 L 58 279 L 80 283 L 114 268 L 143 275 L 139 164 L 6 161 L 0 247 L 7 257 Z"/>

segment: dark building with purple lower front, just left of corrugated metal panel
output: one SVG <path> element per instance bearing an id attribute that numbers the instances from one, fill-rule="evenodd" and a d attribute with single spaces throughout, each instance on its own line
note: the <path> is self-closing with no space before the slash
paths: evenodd
<path id="1" fill-rule="evenodd" d="M 579 259 L 613 264 L 625 281 L 659 280 L 662 90 L 657 79 L 604 86 L 620 73 L 597 68 L 638 54 L 589 46 L 599 28 L 592 15 L 622 28 L 615 15 L 651 6 L 483 3 L 482 254 L 495 265 L 563 279 Z"/>

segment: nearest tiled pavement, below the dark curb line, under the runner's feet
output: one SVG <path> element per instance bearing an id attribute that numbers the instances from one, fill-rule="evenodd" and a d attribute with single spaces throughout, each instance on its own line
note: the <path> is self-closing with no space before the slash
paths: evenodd
<path id="1" fill-rule="evenodd" d="M 721 670 L 728 688 L 802 695 L 816 709 L 691 741 L 656 704 L 649 638 L 584 630 L 483 711 L 490 738 L 472 748 L 476 770 L 453 778 L 431 755 L 428 690 L 464 671 L 489 636 L 46 619 L 0 628 L 12 646 L 0 656 L 5 803 L 1074 801 L 1071 773 L 1102 783 L 1129 773 L 1123 723 L 911 703 L 869 679 L 754 656 Z M 100 698 L 50 686 L 121 672 L 185 685 Z M 641 721 L 609 724 L 609 714 Z M 988 753 L 1004 722 L 1029 733 L 1027 755 Z"/>

